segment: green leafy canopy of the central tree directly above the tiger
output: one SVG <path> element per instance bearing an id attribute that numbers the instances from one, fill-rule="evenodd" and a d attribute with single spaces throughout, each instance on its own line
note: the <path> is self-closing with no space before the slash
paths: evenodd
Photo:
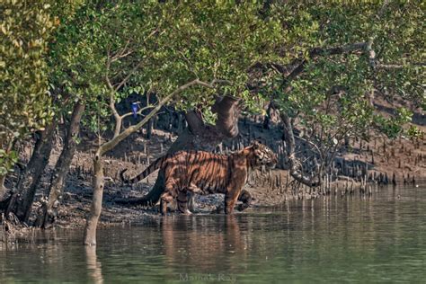
<path id="1" fill-rule="evenodd" d="M 217 92 L 244 97 L 254 108 L 255 94 L 244 92 L 247 69 L 277 58 L 270 51 L 281 34 L 279 21 L 264 19 L 261 9 L 209 1 L 84 4 L 51 45 L 52 84 L 84 98 L 85 124 L 98 131 L 110 120 L 109 83 L 120 102 L 135 93 L 161 99 L 194 79 L 226 80 L 219 90 L 194 86 L 173 103 L 180 110 L 199 108 L 210 122 Z"/>

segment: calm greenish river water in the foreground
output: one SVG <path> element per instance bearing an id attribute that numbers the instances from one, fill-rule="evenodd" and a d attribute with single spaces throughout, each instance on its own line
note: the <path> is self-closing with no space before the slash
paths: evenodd
<path id="1" fill-rule="evenodd" d="M 0 282 L 424 283 L 426 187 L 104 228 L 95 250 L 81 240 L 57 230 L 1 247 Z"/>

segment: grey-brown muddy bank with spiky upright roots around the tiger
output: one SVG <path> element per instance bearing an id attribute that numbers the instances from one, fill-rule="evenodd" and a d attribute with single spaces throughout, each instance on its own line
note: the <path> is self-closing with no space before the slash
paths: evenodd
<path id="1" fill-rule="evenodd" d="M 274 150 L 279 148 L 278 144 L 281 141 L 282 131 L 278 125 L 272 125 L 271 129 L 263 129 L 261 121 L 242 120 L 239 128 L 242 138 L 226 141 L 222 147 L 224 152 L 237 150 L 253 138 L 260 138 Z M 426 128 L 422 128 L 423 131 L 426 130 Z M 100 226 L 144 223 L 160 217 L 158 206 L 141 208 L 115 203 L 115 200 L 145 195 L 153 187 L 156 173 L 132 187 L 125 186 L 120 182 L 119 173 L 124 168 L 129 169 L 128 173 L 131 176 L 142 172 L 148 164 L 155 161 L 155 158 L 165 154 L 179 135 L 179 129 L 182 129 L 182 127 L 154 129 L 149 139 L 144 138 L 146 136 L 145 129 L 141 130 L 106 155 L 105 176 L 107 182 L 104 189 Z M 82 143 L 78 146 L 71 171 L 67 176 L 65 192 L 60 200 L 58 216 L 54 223 L 55 227 L 84 226 L 85 216 L 90 208 L 93 191 L 91 185 L 92 159 L 96 148 L 93 141 L 97 141 L 97 139 L 93 138 L 92 134 L 85 132 L 83 132 L 81 139 Z M 47 173 L 43 175 L 40 182 L 40 191 L 36 195 L 30 223 L 35 219 L 41 202 L 47 195 L 46 190 L 49 187 L 51 171 L 56 164 L 61 146 L 61 141 L 58 139 L 53 149 L 53 155 L 50 157 Z M 25 161 L 30 155 L 31 147 L 22 147 L 22 160 Z M 419 182 L 426 178 L 425 141 L 424 139 L 412 141 L 406 138 L 396 140 L 371 138 L 367 143 L 351 140 L 350 150 L 341 153 L 336 162 L 335 175 L 329 187 L 312 190 L 289 177 L 285 157 L 281 156 L 279 168 L 265 173 L 254 171 L 251 174 L 245 189 L 251 192 L 254 200 L 252 208 L 247 210 L 282 204 L 290 199 L 318 198 L 324 194 L 345 195 L 359 194 L 359 192 L 367 195 L 373 194 L 377 188 L 379 174 L 386 175 L 389 183 L 391 183 L 394 174 L 398 184 L 403 184 L 404 181 L 413 182 L 413 177 L 417 180 L 414 182 Z M 362 171 L 367 171 L 367 176 L 371 176 L 376 181 L 370 181 L 367 186 L 362 188 L 359 176 L 357 176 L 357 174 L 362 175 Z M 9 182 L 13 182 L 13 179 Z M 223 196 L 220 194 L 197 196 L 196 201 L 197 210 L 194 213 L 217 213 L 217 209 L 222 207 Z M 171 214 L 178 214 L 173 212 L 173 208 L 171 211 Z"/>

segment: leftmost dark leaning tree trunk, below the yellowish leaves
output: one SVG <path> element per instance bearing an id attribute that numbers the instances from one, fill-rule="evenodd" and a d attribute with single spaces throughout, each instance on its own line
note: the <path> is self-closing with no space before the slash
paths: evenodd
<path id="1" fill-rule="evenodd" d="M 53 135 L 57 127 L 57 121 L 52 121 L 49 126 L 40 131 L 40 138 L 37 140 L 30 162 L 22 173 L 22 179 L 17 184 L 17 191 L 6 209 L 6 216 L 13 213 L 21 222 L 27 222 L 30 217 L 32 202 L 39 185 L 41 174 L 46 165 L 49 164 L 49 156 L 53 143 Z"/>

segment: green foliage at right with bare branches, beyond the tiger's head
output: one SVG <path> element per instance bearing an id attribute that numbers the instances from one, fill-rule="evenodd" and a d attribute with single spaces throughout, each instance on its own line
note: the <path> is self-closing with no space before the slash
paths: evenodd
<path id="1" fill-rule="evenodd" d="M 297 119 L 302 134 L 324 155 L 332 155 L 346 138 L 368 139 L 371 130 L 395 138 L 411 121 L 407 108 L 424 104 L 422 7 L 416 2 L 274 2 L 269 13 L 279 13 L 288 30 L 282 62 L 290 70 L 291 64 L 300 65 L 303 72 L 291 79 L 269 75 L 265 92 Z M 402 98 L 403 105 L 384 115 L 375 97 Z"/>

